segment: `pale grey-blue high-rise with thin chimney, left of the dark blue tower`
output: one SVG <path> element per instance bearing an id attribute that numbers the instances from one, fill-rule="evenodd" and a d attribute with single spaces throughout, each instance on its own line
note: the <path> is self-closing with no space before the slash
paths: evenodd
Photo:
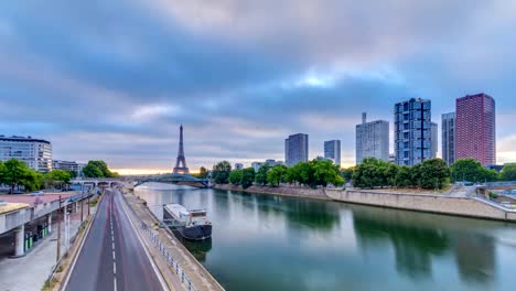
<path id="1" fill-rule="evenodd" d="M 356 163 L 362 163 L 366 158 L 389 160 L 389 122 L 367 122 L 367 115 L 364 112 L 362 125 L 356 126 Z"/>

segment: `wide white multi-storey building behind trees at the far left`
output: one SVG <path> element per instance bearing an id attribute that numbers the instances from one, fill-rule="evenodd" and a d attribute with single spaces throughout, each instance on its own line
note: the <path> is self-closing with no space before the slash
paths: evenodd
<path id="1" fill-rule="evenodd" d="M 18 159 L 35 171 L 52 171 L 52 144 L 31 137 L 0 136 L 0 161 Z"/>

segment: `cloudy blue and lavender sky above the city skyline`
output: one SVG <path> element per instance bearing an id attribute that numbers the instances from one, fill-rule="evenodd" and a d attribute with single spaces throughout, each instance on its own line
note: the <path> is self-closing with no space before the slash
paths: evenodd
<path id="1" fill-rule="evenodd" d="M 393 128 L 394 104 L 421 97 L 440 125 L 458 97 L 486 93 L 497 162 L 516 161 L 515 11 L 515 0 L 1 1 L 0 134 L 143 173 L 172 170 L 181 123 L 192 170 L 283 160 L 284 138 L 303 132 L 310 158 L 341 139 L 347 166 L 363 111 Z"/>

